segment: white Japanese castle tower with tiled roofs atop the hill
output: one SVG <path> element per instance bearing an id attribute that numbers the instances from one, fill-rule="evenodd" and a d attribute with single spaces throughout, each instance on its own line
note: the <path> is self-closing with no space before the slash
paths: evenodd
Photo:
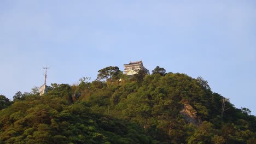
<path id="1" fill-rule="evenodd" d="M 124 64 L 124 67 L 124 72 L 126 75 L 138 74 L 139 70 L 143 70 L 149 75 L 149 70 L 143 66 L 142 61 L 130 62 L 129 64 Z"/>

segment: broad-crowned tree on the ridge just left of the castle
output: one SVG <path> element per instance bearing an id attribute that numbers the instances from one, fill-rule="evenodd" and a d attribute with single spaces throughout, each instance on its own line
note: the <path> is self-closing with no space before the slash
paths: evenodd
<path id="1" fill-rule="evenodd" d="M 99 80 L 118 80 L 121 76 L 122 71 L 118 67 L 106 67 L 104 69 L 98 70 L 97 79 Z"/>

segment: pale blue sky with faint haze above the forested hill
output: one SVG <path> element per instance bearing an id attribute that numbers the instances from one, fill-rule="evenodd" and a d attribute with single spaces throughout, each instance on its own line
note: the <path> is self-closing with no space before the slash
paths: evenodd
<path id="1" fill-rule="evenodd" d="M 0 94 L 143 61 L 256 115 L 256 1 L 0 1 Z"/>

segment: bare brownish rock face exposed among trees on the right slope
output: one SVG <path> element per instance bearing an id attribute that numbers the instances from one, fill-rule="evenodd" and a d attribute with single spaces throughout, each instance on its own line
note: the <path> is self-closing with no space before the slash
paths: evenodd
<path id="1" fill-rule="evenodd" d="M 184 108 L 181 111 L 181 114 L 184 117 L 185 121 L 187 121 L 188 123 L 199 124 L 196 113 L 197 112 L 193 108 L 193 106 L 189 104 L 184 104 Z"/>

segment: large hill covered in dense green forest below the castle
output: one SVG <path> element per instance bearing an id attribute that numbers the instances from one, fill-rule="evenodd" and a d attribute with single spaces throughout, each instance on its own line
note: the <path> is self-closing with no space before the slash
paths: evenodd
<path id="1" fill-rule="evenodd" d="M 0 143 L 256 143 L 249 109 L 202 77 L 152 72 L 129 77 L 107 67 L 95 81 L 53 83 L 43 96 L 0 95 Z"/>

